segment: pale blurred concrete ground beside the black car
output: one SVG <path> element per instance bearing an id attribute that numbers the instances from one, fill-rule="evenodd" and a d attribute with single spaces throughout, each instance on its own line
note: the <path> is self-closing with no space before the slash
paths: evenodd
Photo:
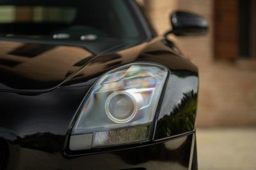
<path id="1" fill-rule="evenodd" d="M 200 170 L 255 170 L 256 128 L 198 129 Z"/>

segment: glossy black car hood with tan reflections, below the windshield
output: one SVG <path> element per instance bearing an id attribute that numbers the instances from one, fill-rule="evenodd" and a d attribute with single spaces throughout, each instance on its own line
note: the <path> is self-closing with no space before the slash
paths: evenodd
<path id="1" fill-rule="evenodd" d="M 54 89 L 90 60 L 118 46 L 122 46 L 118 39 L 69 44 L 63 41 L 2 39 L 0 91 L 43 92 Z"/>

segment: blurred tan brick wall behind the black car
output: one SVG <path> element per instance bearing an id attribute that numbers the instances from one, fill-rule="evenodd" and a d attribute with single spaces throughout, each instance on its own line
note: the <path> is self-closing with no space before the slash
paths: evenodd
<path id="1" fill-rule="evenodd" d="M 197 125 L 256 125 L 256 60 L 214 60 L 213 0 L 145 0 L 148 15 L 159 34 L 170 29 L 173 10 L 193 11 L 210 22 L 207 36 L 170 36 L 200 69 Z"/>

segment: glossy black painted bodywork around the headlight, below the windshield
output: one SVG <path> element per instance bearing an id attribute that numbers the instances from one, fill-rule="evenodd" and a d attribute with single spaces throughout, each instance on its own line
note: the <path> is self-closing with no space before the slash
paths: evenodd
<path id="1" fill-rule="evenodd" d="M 172 41 L 148 34 L 146 40 L 99 39 L 103 43 L 2 39 L 0 59 L 28 64 L 17 69 L 19 63 L 0 60 L 5 169 L 191 169 L 198 69 Z M 170 71 L 154 118 L 154 138 L 68 153 L 67 131 L 90 87 L 106 71 L 132 62 L 162 64 Z"/>

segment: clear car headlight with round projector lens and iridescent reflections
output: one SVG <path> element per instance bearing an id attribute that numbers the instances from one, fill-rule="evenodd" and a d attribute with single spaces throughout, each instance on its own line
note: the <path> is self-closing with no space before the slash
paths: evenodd
<path id="1" fill-rule="evenodd" d="M 167 74 L 165 67 L 146 63 L 104 74 L 74 119 L 70 150 L 148 141 Z"/>

